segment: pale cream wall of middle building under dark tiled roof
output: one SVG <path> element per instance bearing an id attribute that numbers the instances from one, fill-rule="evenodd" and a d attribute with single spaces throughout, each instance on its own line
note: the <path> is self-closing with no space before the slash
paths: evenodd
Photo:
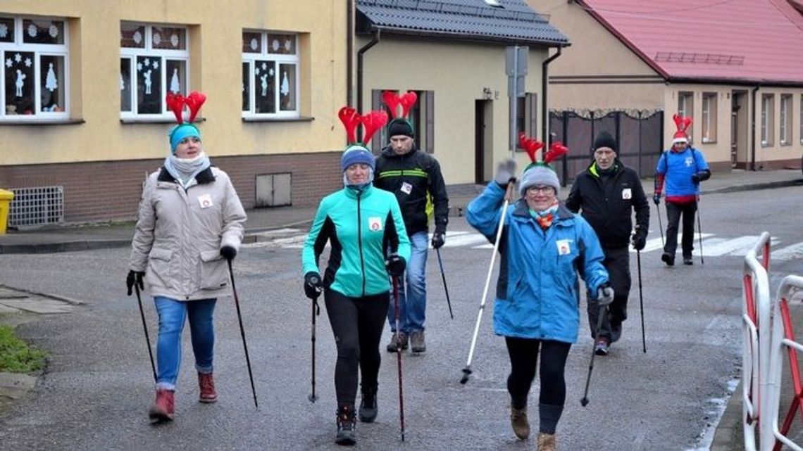
<path id="1" fill-rule="evenodd" d="M 368 43 L 357 40 L 357 50 Z M 530 47 L 525 91 L 538 95 L 538 133 L 541 117 L 541 65 L 545 47 Z M 356 61 L 356 59 L 355 59 Z M 364 54 L 363 109 L 371 106 L 372 89 L 434 91 L 434 154 L 446 184 L 475 181 L 475 100 L 483 88 L 491 100 L 491 136 L 494 162 L 511 156 L 508 145 L 509 104 L 505 47 L 479 43 L 442 43 L 394 40 L 385 36 Z M 535 136 L 533 136 L 535 137 Z M 520 167 L 524 152 L 516 152 Z M 493 165 L 495 170 L 495 164 Z"/>

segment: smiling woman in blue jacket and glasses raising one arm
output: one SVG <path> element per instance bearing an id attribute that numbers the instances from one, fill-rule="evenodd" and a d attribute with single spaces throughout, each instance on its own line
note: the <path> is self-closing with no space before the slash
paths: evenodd
<path id="1" fill-rule="evenodd" d="M 491 242 L 515 173 L 515 161 L 500 164 L 495 181 L 468 205 L 469 224 Z M 613 301 L 597 235 L 585 219 L 560 204 L 559 190 L 557 174 L 548 165 L 533 163 L 524 170 L 521 198 L 507 209 L 498 245 L 501 262 L 493 315 L 494 331 L 505 337 L 510 356 L 511 425 L 521 440 L 530 433 L 527 400 L 540 353 L 541 451 L 555 449 L 565 404 L 566 358 L 580 326 L 577 272 L 603 308 Z"/>

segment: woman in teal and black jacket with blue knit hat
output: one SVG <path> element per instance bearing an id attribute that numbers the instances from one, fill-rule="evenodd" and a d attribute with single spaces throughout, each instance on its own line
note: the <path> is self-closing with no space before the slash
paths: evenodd
<path id="1" fill-rule="evenodd" d="M 304 243 L 302 264 L 306 295 L 315 299 L 320 289 L 324 291 L 337 343 L 335 441 L 353 445 L 357 370 L 362 374 L 360 420 L 371 422 L 377 416 L 379 340 L 389 304 L 388 274 L 404 274 L 410 241 L 396 197 L 373 187 L 374 157 L 368 148 L 362 144 L 346 148 L 340 169 L 345 187 L 320 201 Z M 327 242 L 332 249 L 321 282 L 318 259 Z"/>

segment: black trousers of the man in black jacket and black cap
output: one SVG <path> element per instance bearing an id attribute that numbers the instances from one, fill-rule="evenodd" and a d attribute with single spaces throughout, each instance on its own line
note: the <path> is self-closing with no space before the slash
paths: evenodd
<path id="1" fill-rule="evenodd" d="M 605 249 L 605 260 L 602 262 L 608 270 L 610 286 L 613 288 L 613 303 L 605 309 L 602 317 L 602 327 L 600 336 L 606 337 L 611 342 L 618 340 L 622 336 L 622 321 L 627 319 L 627 298 L 630 296 L 630 247 L 620 247 L 618 249 Z M 589 328 L 591 337 L 597 338 L 597 321 L 599 319 L 600 307 L 597 303 L 597 293 L 586 295 Z"/>

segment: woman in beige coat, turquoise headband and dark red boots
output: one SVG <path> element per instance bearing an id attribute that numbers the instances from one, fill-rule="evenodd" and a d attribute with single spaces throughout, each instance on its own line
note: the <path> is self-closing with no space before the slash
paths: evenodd
<path id="1" fill-rule="evenodd" d="M 172 154 L 145 181 L 129 262 L 132 286 L 148 286 L 159 315 L 157 396 L 153 421 L 173 419 L 181 367 L 181 331 L 190 319 L 199 400 L 218 396 L 212 379 L 214 304 L 229 293 L 226 260 L 237 255 L 246 213 L 231 181 L 210 166 L 193 124 L 171 130 Z M 143 284 L 143 280 L 145 284 Z"/>

